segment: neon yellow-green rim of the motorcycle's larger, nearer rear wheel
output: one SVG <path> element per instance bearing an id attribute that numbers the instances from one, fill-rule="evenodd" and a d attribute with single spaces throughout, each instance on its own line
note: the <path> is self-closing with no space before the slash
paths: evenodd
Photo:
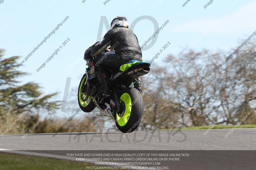
<path id="1" fill-rule="evenodd" d="M 122 117 L 119 117 L 116 113 L 116 121 L 119 124 L 119 126 L 124 126 L 128 122 L 131 111 L 132 111 L 132 99 L 131 96 L 128 93 L 122 94 L 120 97 L 120 100 L 122 100 L 125 103 L 125 112 Z M 120 101 L 121 102 L 121 101 Z"/>

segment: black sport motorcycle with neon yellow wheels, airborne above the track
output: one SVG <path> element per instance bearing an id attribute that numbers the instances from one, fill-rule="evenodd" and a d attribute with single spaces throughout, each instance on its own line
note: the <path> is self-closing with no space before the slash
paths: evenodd
<path id="1" fill-rule="evenodd" d="M 97 44 L 88 49 L 92 49 L 95 45 Z M 114 48 L 108 47 L 108 51 L 114 52 Z M 122 65 L 120 70 L 104 67 L 109 79 L 109 95 L 97 98 L 100 82 L 94 71 L 93 58 L 90 55 L 84 56 L 88 67 L 78 87 L 79 107 L 87 113 L 97 107 L 114 117 L 116 127 L 121 132 L 133 132 L 140 124 L 144 107 L 142 95 L 134 88 L 134 84 L 138 81 L 138 77 L 148 74 L 150 63 L 131 60 Z"/>

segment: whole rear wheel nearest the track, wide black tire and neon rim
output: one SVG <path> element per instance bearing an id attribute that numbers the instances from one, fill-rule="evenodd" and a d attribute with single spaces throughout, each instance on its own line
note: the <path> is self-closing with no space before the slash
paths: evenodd
<path id="1" fill-rule="evenodd" d="M 119 97 L 122 110 L 115 113 L 116 127 L 123 133 L 131 133 L 138 128 L 143 113 L 143 98 L 135 88 L 125 89 Z M 119 117 L 120 116 L 120 117 Z"/>

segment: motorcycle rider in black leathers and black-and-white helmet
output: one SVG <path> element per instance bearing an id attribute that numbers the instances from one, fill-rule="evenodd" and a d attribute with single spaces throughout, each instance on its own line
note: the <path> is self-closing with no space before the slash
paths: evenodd
<path id="1" fill-rule="evenodd" d="M 103 40 L 86 53 L 92 57 L 97 56 L 94 61 L 95 63 L 100 63 L 95 67 L 95 72 L 101 85 L 96 97 L 108 96 L 108 78 L 103 66 L 119 70 L 121 65 L 130 60 L 142 62 L 138 39 L 128 27 L 129 24 L 126 17 L 117 16 L 112 20 L 111 29 L 104 35 Z M 115 53 L 106 52 L 101 54 L 109 45 L 114 47 Z M 140 77 L 137 80 L 134 87 L 141 92 Z"/>

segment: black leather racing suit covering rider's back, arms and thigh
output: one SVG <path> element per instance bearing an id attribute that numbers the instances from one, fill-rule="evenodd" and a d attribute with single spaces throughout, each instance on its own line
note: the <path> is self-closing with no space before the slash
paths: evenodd
<path id="1" fill-rule="evenodd" d="M 109 45 L 114 48 L 116 54 L 110 52 L 101 54 Z M 142 61 L 138 39 L 132 30 L 125 27 L 109 30 L 102 42 L 92 48 L 91 56 L 97 56 L 95 61 L 98 63 L 101 61 L 100 64 L 103 66 L 117 70 L 127 61 Z"/>

